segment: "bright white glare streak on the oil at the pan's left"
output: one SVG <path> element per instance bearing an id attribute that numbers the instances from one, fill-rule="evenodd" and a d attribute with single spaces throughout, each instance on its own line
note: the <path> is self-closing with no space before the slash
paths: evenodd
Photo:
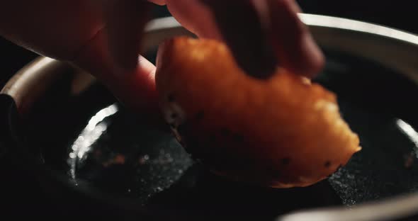
<path id="1" fill-rule="evenodd" d="M 81 135 L 74 141 L 71 147 L 72 152 L 69 153 L 68 159 L 68 164 L 70 166 L 69 174 L 72 179 L 76 178 L 75 171 L 77 169 L 77 164 L 86 159 L 86 153 L 91 150 L 91 145 L 94 145 L 103 132 L 106 132 L 108 123 L 103 120 L 117 112 L 118 106 L 116 104 L 98 111 L 98 113 L 89 120 L 89 123 L 84 130 L 82 130 Z"/>

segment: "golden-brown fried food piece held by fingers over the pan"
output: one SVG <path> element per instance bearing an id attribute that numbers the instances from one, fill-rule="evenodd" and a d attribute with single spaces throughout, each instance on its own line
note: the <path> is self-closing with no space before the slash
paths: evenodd
<path id="1" fill-rule="evenodd" d="M 156 81 L 181 145 L 235 181 L 310 186 L 361 149 L 332 92 L 281 68 L 270 79 L 250 77 L 215 40 L 164 42 Z"/>

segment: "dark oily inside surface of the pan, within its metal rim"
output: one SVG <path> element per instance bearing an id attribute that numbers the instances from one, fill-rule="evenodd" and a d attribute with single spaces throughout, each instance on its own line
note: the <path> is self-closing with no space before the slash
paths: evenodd
<path id="1" fill-rule="evenodd" d="M 100 84 L 77 96 L 65 96 L 66 86 L 53 89 L 28 119 L 27 147 L 68 180 L 86 181 L 89 188 L 135 200 L 138 207 L 199 220 L 218 215 L 268 220 L 292 210 L 349 207 L 415 191 L 418 87 L 380 64 L 326 54 L 327 66 L 315 81 L 338 94 L 341 113 L 363 149 L 314 186 L 259 188 L 208 174 L 168 131 L 143 125 L 146 116 L 130 113 Z"/>

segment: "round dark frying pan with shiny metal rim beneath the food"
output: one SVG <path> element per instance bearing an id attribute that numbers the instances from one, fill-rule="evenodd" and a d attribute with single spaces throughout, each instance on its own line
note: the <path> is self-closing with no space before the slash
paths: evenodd
<path id="1" fill-rule="evenodd" d="M 416 220 L 418 37 L 300 14 L 327 57 L 318 83 L 338 95 L 361 152 L 306 188 L 247 186 L 208 173 L 167 130 L 149 128 L 89 73 L 39 57 L 0 95 L 0 156 L 35 174 L 62 218 L 102 220 Z M 150 60 L 174 18 L 147 26 Z"/>

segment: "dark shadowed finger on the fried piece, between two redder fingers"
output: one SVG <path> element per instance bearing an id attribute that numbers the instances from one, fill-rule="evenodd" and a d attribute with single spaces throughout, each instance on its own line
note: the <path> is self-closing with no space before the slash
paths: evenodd
<path id="1" fill-rule="evenodd" d="M 252 2 L 203 0 L 203 3 L 213 12 L 222 38 L 238 66 L 252 77 L 271 77 L 278 61 Z"/>

